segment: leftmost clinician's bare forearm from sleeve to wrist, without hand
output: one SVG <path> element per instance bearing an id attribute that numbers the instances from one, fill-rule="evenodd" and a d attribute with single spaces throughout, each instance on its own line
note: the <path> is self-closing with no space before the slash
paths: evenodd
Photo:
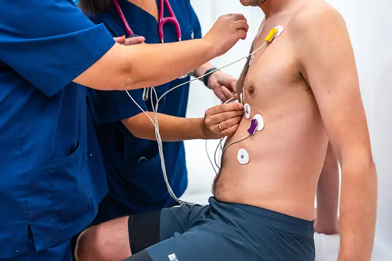
<path id="1" fill-rule="evenodd" d="M 115 44 L 74 82 L 107 91 L 159 86 L 215 56 L 215 49 L 204 39 L 159 45 Z"/>

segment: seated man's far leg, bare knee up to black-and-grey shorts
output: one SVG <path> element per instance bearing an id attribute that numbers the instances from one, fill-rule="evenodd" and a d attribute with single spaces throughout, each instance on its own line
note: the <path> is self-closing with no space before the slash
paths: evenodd
<path id="1" fill-rule="evenodd" d="M 175 233 L 184 233 L 201 209 L 168 208 L 90 227 L 78 239 L 76 261 L 122 261 Z"/>

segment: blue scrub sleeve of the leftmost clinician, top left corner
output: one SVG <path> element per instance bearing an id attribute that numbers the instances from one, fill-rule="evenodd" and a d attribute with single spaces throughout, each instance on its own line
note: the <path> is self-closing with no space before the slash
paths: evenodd
<path id="1" fill-rule="evenodd" d="M 114 40 L 72 0 L 0 1 L 0 60 L 48 96 L 99 60 Z"/>

